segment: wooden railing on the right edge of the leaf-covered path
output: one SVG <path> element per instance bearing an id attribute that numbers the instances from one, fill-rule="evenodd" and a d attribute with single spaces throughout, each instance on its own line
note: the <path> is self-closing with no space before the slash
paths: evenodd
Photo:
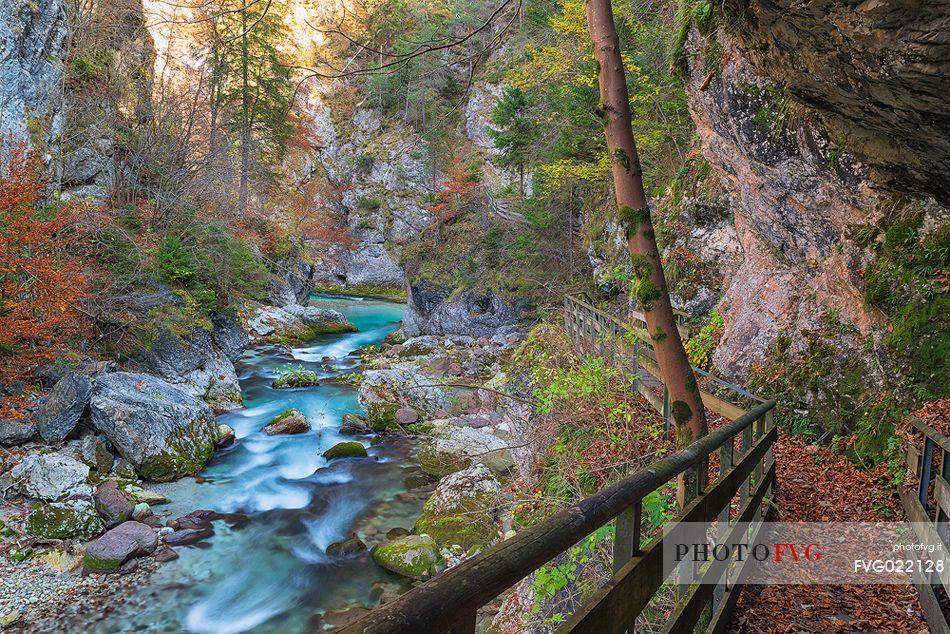
<path id="1" fill-rule="evenodd" d="M 950 595 L 950 438 L 916 416 L 908 416 L 911 427 L 920 434 L 919 444 L 907 444 L 907 468 L 914 488 L 901 491 L 901 503 L 911 522 L 917 543 L 931 544 L 943 559 L 942 574 L 924 576 L 914 571 L 914 584 L 920 596 L 924 616 L 932 632 L 950 632 L 950 623 L 937 598 Z M 938 468 L 935 468 L 939 465 Z M 931 503 L 931 499 L 933 503 Z"/>

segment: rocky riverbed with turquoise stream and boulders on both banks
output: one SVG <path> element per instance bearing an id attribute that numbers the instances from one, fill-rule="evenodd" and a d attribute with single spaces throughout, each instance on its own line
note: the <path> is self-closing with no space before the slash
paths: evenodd
<path id="1" fill-rule="evenodd" d="M 215 406 L 217 420 L 193 385 L 96 366 L 8 426 L 10 627 L 333 629 L 511 534 L 527 414 L 502 368 L 522 331 L 383 342 L 391 312 L 347 300 L 360 331 L 345 334 L 324 301 L 258 310 L 244 344 L 212 338 L 228 359 L 257 341 L 234 370 L 245 408 Z M 315 324 L 339 334 L 307 344 Z M 298 373 L 314 380 L 278 385 Z"/>

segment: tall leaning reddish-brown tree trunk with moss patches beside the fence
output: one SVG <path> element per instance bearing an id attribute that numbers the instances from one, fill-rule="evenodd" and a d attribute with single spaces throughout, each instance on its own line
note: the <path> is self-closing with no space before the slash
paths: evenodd
<path id="1" fill-rule="evenodd" d="M 676 329 L 676 318 L 656 246 L 633 139 L 630 98 L 610 0 L 588 0 L 587 22 L 599 65 L 601 110 L 598 114 L 604 123 L 617 205 L 627 230 L 634 273 L 630 282 L 631 293 L 637 297 L 646 316 L 660 373 L 670 391 L 676 444 L 684 447 L 706 434 L 706 413 L 696 377 Z"/>

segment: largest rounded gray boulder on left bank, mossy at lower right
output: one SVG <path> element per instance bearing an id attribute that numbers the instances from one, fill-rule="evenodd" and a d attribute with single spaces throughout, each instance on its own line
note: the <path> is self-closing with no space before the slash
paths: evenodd
<path id="1" fill-rule="evenodd" d="M 195 473 L 211 459 L 218 426 L 211 408 L 147 374 L 116 372 L 96 380 L 93 426 L 146 479 Z"/>

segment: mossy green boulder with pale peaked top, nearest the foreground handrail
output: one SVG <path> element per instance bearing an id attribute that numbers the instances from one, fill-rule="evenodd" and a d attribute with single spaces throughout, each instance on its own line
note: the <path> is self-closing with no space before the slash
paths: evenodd
<path id="1" fill-rule="evenodd" d="M 430 535 L 440 546 L 484 548 L 498 539 L 500 494 L 501 483 L 484 465 L 448 475 L 423 505 L 415 532 Z"/>

